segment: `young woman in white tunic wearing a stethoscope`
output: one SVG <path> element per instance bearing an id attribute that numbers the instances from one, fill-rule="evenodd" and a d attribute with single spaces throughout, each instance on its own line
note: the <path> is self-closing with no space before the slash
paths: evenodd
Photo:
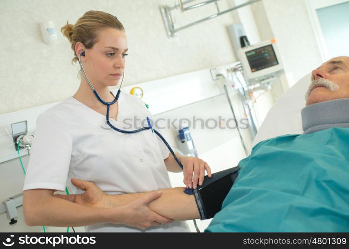
<path id="1" fill-rule="evenodd" d="M 116 86 L 125 69 L 127 40 L 118 19 L 100 11 L 86 12 L 63 34 L 80 57 L 99 96 L 114 100 L 109 87 Z M 84 53 L 83 53 L 84 52 Z M 42 113 L 24 183 L 24 215 L 28 225 L 86 226 L 89 232 L 187 232 L 185 222 L 172 221 L 148 208 L 161 193 L 154 192 L 119 208 L 85 207 L 55 197 L 56 190 L 71 186 L 71 178 L 94 182 L 107 194 L 147 192 L 169 188 L 167 171 L 181 171 L 174 157 L 151 130 L 134 134 L 116 132 L 105 124 L 106 106 L 100 103 L 82 75 L 78 91 Z M 151 117 L 144 103 L 120 94 L 110 106 L 109 118 L 119 129 L 143 127 L 139 120 Z M 137 120 L 135 120 L 137 118 Z M 126 125 L 125 121 L 128 122 Z M 202 184 L 207 163 L 180 157 L 187 187 Z"/>

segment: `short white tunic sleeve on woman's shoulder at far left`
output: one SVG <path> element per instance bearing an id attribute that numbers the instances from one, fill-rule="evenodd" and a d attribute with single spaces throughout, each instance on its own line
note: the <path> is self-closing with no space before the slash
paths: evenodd
<path id="1" fill-rule="evenodd" d="M 45 112 L 37 119 L 23 190 L 64 191 L 72 151 L 72 139 L 61 121 Z"/>

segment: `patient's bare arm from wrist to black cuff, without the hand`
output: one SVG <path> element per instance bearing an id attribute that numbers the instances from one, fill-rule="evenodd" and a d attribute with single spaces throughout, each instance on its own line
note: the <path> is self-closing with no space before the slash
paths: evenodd
<path id="1" fill-rule="evenodd" d="M 184 188 L 162 189 L 162 195 L 150 202 L 149 207 L 161 216 L 172 220 L 191 220 L 199 219 L 199 211 L 195 202 L 194 195 L 185 194 Z M 128 204 L 147 193 L 132 193 L 121 195 L 107 195 L 107 207 L 120 207 Z"/>

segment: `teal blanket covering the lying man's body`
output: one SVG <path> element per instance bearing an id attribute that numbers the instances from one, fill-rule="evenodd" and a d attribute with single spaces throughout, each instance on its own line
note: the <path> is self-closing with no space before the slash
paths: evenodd
<path id="1" fill-rule="evenodd" d="M 258 143 L 205 232 L 349 232 L 349 128 Z"/>

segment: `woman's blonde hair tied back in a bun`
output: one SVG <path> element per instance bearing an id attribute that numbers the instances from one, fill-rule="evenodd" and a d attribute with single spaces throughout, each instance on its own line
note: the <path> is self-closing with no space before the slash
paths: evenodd
<path id="1" fill-rule="evenodd" d="M 78 61 L 75 53 L 75 45 L 81 42 L 86 49 L 90 49 L 98 42 L 98 33 L 103 28 L 116 28 L 125 31 L 122 23 L 115 16 L 102 11 L 87 11 L 78 19 L 75 25 L 67 24 L 61 28 L 61 32 L 68 38 L 74 51 L 73 63 Z"/>

